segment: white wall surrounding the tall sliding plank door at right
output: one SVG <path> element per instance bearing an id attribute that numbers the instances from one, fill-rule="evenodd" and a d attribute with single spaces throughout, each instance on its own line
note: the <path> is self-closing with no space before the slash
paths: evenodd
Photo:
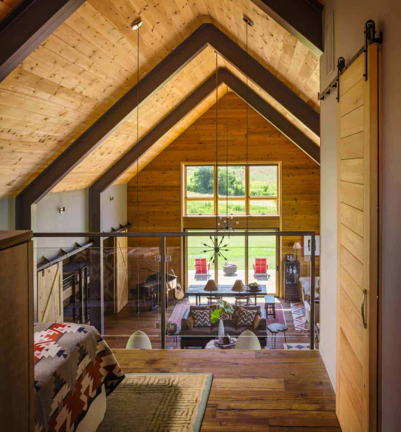
<path id="1" fill-rule="evenodd" d="M 334 9 L 334 59 L 342 56 L 346 63 L 363 46 L 364 24 L 376 22 L 383 32 L 383 254 L 382 254 L 382 431 L 398 431 L 401 424 L 401 372 L 399 307 L 401 283 L 398 265 L 401 247 L 401 55 L 399 28 L 401 2 L 398 0 L 327 0 L 325 16 Z M 323 62 L 324 60 L 322 60 Z M 324 70 L 321 63 L 321 70 Z M 321 89 L 333 79 L 321 76 Z M 335 215 L 328 211 L 335 205 L 336 137 L 335 95 L 321 102 L 321 241 L 322 241 L 322 356 L 335 371 L 336 326 L 333 309 L 336 283 L 337 238 Z M 331 130 L 331 132 L 328 132 Z M 333 201 L 331 203 L 331 201 Z M 325 208 L 327 206 L 327 209 Z M 323 318 L 325 317 L 325 318 Z M 333 317 L 334 319 L 328 319 Z"/>

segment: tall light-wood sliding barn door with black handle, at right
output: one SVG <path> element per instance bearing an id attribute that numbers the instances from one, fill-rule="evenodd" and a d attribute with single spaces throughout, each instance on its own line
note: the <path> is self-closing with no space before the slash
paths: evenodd
<path id="1" fill-rule="evenodd" d="M 343 432 L 377 429 L 379 85 L 381 47 L 340 76 L 337 111 L 336 413 Z"/>

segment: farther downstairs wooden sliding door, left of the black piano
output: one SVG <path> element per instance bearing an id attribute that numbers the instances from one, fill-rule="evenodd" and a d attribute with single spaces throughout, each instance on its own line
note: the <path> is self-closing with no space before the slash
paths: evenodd
<path id="1" fill-rule="evenodd" d="M 123 231 L 127 232 L 127 230 Z M 128 303 L 127 237 L 114 238 L 114 313 Z"/>

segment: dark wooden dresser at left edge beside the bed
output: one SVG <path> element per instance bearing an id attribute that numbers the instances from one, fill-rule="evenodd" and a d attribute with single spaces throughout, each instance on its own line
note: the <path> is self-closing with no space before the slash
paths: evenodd
<path id="1" fill-rule="evenodd" d="M 33 431 L 32 231 L 0 231 L 0 429 Z"/>

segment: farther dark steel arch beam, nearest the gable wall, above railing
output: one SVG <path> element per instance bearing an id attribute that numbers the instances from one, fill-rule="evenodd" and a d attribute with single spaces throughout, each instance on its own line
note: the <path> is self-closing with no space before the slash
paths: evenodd
<path id="1" fill-rule="evenodd" d="M 251 90 L 228 69 L 221 68 L 217 74 L 217 85 L 226 84 L 243 100 L 255 109 L 262 117 L 277 127 L 283 135 L 290 139 L 296 146 L 310 156 L 315 162 L 320 163 L 320 149 L 296 128 L 282 114 L 264 101 L 259 95 Z M 207 96 L 216 89 L 216 77 L 211 76 L 202 86 L 195 90 L 174 111 L 154 127 L 137 146 L 130 149 L 105 174 L 102 175 L 89 188 L 89 223 L 92 232 L 102 231 L 102 192 L 113 184 L 127 169 L 135 165 L 137 157 L 140 158 L 148 149 L 160 140 L 165 133 L 174 127 L 179 121 L 196 108 Z"/>

